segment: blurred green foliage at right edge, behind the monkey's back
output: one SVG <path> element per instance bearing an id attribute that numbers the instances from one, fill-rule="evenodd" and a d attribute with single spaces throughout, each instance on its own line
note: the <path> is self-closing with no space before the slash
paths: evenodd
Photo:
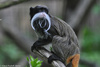
<path id="1" fill-rule="evenodd" d="M 100 63 L 100 34 L 99 32 L 93 32 L 88 27 L 84 27 L 82 30 L 82 52 L 81 58 L 89 60 L 91 62 Z"/>

